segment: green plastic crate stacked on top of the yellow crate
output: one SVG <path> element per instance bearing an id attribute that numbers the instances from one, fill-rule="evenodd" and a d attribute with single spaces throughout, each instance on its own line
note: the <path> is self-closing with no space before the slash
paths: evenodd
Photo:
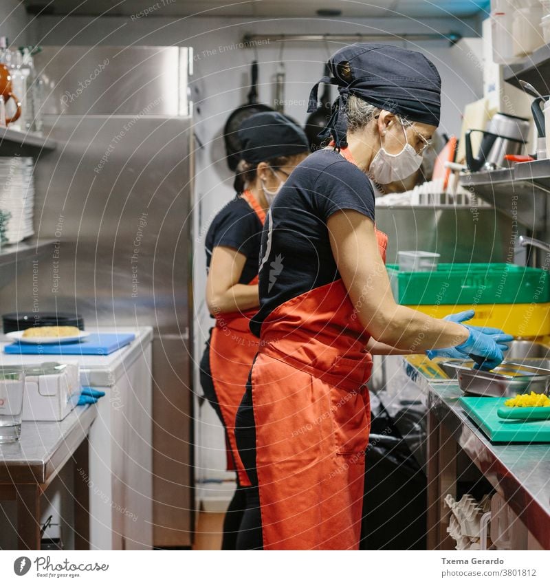
<path id="1" fill-rule="evenodd" d="M 386 266 L 399 304 L 512 304 L 550 301 L 548 272 L 514 263 L 439 263 L 431 272 Z"/>

